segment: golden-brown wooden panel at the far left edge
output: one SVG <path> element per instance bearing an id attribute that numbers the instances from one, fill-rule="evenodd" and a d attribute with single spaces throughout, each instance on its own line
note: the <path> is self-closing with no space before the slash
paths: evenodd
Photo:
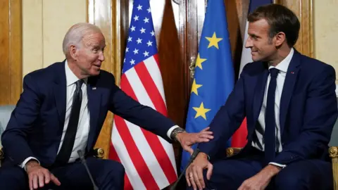
<path id="1" fill-rule="evenodd" d="M 0 1 L 0 105 L 15 105 L 22 91 L 21 0 Z"/>

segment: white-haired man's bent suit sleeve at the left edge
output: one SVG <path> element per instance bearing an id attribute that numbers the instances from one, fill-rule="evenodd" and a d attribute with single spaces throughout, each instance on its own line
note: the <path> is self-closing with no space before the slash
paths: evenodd
<path id="1" fill-rule="evenodd" d="M 1 137 L 5 154 L 15 165 L 20 165 L 26 158 L 35 157 L 27 144 L 27 134 L 37 119 L 39 108 L 37 84 L 30 75 L 26 75 L 23 80 L 23 93 Z"/>

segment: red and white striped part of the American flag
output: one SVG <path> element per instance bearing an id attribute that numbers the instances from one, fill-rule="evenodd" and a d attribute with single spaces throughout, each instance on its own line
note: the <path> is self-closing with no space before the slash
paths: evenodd
<path id="1" fill-rule="evenodd" d="M 167 114 L 157 54 L 127 70 L 120 87 L 139 103 Z M 114 116 L 110 158 L 125 167 L 125 189 L 163 189 L 175 182 L 173 145 L 161 137 Z"/>

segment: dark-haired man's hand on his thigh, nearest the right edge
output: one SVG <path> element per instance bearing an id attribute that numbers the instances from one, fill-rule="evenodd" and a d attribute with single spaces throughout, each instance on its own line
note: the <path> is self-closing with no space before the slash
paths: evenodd
<path id="1" fill-rule="evenodd" d="M 238 190 L 263 190 L 268 186 L 271 181 L 271 178 L 277 175 L 278 172 L 282 170 L 276 165 L 268 165 L 258 172 L 258 174 L 246 179 Z"/>

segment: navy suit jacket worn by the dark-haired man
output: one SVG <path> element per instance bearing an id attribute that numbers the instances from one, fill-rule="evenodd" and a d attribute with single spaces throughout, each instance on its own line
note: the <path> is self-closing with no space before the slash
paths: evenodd
<path id="1" fill-rule="evenodd" d="M 337 120 L 335 71 L 332 66 L 294 51 L 289 64 L 280 100 L 280 132 L 282 152 L 273 162 L 289 164 L 296 160 L 326 159 L 332 128 Z M 248 144 L 261 111 L 268 65 L 247 64 L 230 94 L 211 122 L 214 139 L 199 144 L 211 159 L 225 152 L 225 144 L 238 129 L 244 117 L 247 121 Z"/>

